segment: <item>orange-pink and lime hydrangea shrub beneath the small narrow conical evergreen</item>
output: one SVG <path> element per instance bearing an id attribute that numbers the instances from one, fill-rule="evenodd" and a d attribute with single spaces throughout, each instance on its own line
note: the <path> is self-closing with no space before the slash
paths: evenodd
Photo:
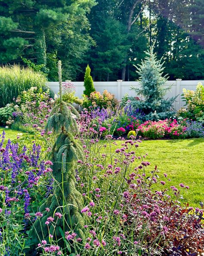
<path id="1" fill-rule="evenodd" d="M 103 93 L 93 92 L 90 94 L 90 97 L 83 96 L 83 108 L 89 109 L 90 107 L 100 109 L 104 108 L 114 108 L 118 105 L 117 99 L 114 97 L 114 94 L 109 93 L 107 90 L 104 90 Z"/>

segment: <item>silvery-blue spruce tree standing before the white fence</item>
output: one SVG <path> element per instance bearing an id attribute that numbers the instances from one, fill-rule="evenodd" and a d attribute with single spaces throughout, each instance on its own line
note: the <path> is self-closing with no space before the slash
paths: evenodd
<path id="1" fill-rule="evenodd" d="M 157 60 L 153 47 L 145 53 L 146 57 L 144 61 L 142 60 L 142 64 L 138 67 L 135 66 L 141 88 L 132 87 L 132 90 L 143 99 L 130 97 L 130 104 L 145 113 L 145 120 L 169 118 L 174 113 L 170 109 L 176 97 L 164 99 L 167 90 L 170 89 L 170 87 L 164 87 L 164 83 L 168 79 L 167 75 L 163 76 L 164 62 L 162 62 L 162 58 Z"/>

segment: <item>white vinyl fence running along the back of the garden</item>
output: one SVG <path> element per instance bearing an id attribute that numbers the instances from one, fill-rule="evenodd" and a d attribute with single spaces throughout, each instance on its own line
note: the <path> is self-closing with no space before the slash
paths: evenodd
<path id="1" fill-rule="evenodd" d="M 76 89 L 76 96 L 81 97 L 83 94 L 83 82 L 71 82 Z M 165 98 L 171 98 L 178 95 L 176 101 L 173 104 L 173 107 L 178 110 L 182 107 L 185 102 L 182 101 L 182 90 L 183 88 L 187 90 L 195 90 L 198 82 L 204 84 L 204 80 L 181 80 L 176 79 L 173 81 L 167 81 L 165 86 L 172 86 L 170 91 L 168 91 Z M 54 91 L 54 93 L 58 93 L 59 91 L 59 83 L 58 82 L 49 82 L 48 86 Z M 131 86 L 140 87 L 139 82 L 126 82 L 123 80 L 117 80 L 116 82 L 94 82 L 94 86 L 96 91 L 102 93 L 104 90 L 108 90 L 108 92 L 113 93 L 117 99 L 122 99 L 125 93 L 128 93 L 129 96 L 137 96 L 135 91 L 131 90 Z"/>

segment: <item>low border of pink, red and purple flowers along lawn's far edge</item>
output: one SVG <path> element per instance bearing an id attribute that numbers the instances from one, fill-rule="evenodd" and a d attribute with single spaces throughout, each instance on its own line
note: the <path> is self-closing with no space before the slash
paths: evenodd
<path id="1" fill-rule="evenodd" d="M 148 139 L 204 137 L 202 122 L 183 118 L 143 122 L 144 115 L 139 110 L 133 111 L 131 106 L 119 106 L 116 109 L 93 108 L 91 112 L 84 111 L 82 116 L 83 114 L 90 118 L 91 124 L 103 138 L 108 133 L 117 137 L 127 135 L 127 138 L 130 138 L 131 135 L 137 135 Z"/>

